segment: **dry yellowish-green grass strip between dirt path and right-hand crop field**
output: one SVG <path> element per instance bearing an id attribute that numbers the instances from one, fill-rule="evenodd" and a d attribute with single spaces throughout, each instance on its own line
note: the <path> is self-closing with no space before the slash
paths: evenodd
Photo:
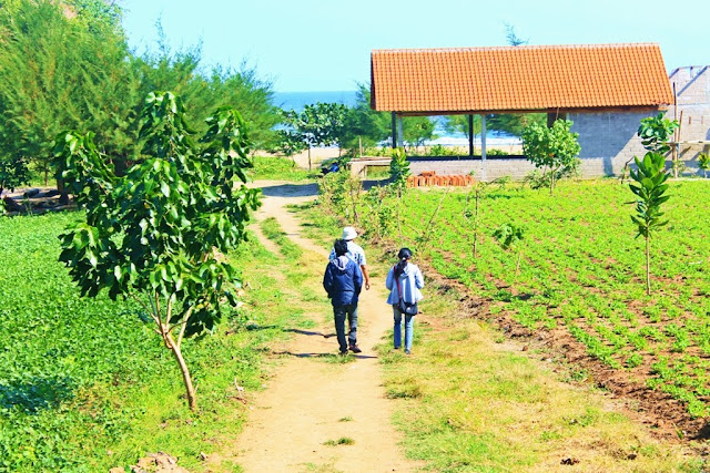
<path id="1" fill-rule="evenodd" d="M 582 471 L 700 470 L 591 385 L 570 389 L 549 363 L 496 343 L 486 325 L 452 317 L 453 296 L 424 306 L 437 328 L 416 328 L 415 356 L 393 354 L 388 339 L 379 347 L 407 456 L 435 471 L 551 471 L 565 457 Z"/>

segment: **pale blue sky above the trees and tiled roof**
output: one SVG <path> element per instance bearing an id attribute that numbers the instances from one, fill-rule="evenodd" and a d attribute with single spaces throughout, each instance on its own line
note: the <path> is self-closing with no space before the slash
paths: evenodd
<path id="1" fill-rule="evenodd" d="M 122 0 L 140 53 L 155 23 L 173 48 L 202 42 L 203 62 L 245 62 L 274 90 L 344 91 L 369 81 L 369 53 L 388 48 L 656 42 L 666 68 L 710 64 L 710 0 Z"/>

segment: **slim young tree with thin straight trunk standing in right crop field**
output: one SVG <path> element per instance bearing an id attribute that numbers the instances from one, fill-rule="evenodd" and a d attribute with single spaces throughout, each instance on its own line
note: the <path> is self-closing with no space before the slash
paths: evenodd
<path id="1" fill-rule="evenodd" d="M 631 179 L 635 182 L 629 184 L 631 192 L 637 196 L 636 215 L 631 215 L 631 222 L 637 226 L 636 237 L 642 236 L 646 240 L 646 294 L 650 295 L 651 234 L 668 224 L 668 220 L 661 219 L 661 204 L 669 199 L 669 196 L 665 195 L 668 189 L 668 172 L 666 158 L 660 153 L 648 152 L 643 161 L 639 161 L 638 157 L 633 160 L 638 171 L 631 169 Z"/>

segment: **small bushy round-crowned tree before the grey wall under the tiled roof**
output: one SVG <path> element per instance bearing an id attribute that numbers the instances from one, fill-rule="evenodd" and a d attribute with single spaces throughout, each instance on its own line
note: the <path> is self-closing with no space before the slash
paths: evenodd
<path id="1" fill-rule="evenodd" d="M 555 182 L 578 163 L 581 147 L 577 142 L 579 135 L 569 131 L 571 126 L 569 120 L 558 120 L 551 127 L 532 123 L 523 132 L 523 152 L 528 161 L 549 176 L 550 195 L 555 191 Z"/>

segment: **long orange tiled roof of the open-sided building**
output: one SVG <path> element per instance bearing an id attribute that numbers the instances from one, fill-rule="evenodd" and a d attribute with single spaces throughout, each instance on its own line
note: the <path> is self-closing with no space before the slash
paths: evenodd
<path id="1" fill-rule="evenodd" d="M 672 92 L 658 44 L 375 50 L 372 106 L 496 112 L 659 106 Z"/>

